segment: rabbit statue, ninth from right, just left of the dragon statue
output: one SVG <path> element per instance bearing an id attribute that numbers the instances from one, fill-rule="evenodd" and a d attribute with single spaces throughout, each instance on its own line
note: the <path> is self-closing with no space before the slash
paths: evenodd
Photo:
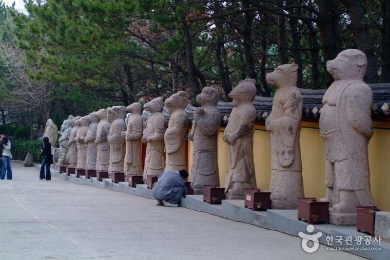
<path id="1" fill-rule="evenodd" d="M 95 144 L 96 155 L 96 170 L 108 171 L 110 165 L 110 144 L 107 141 L 110 123 L 107 120 L 108 108 L 103 108 L 95 112 L 95 116 L 99 118 L 98 129 L 96 131 Z"/>

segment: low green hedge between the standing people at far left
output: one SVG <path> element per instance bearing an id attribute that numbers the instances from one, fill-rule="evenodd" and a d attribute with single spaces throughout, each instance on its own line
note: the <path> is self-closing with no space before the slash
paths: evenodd
<path id="1" fill-rule="evenodd" d="M 42 140 L 18 141 L 13 140 L 11 143 L 11 153 L 13 160 L 24 160 L 28 152 L 33 157 L 33 161 L 39 163 L 42 159 L 40 146 Z"/>

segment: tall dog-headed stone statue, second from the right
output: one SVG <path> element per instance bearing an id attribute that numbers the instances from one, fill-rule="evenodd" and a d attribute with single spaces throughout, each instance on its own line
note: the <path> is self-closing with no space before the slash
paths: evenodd
<path id="1" fill-rule="evenodd" d="M 296 87 L 297 70 L 296 64 L 283 64 L 266 76 L 277 88 L 272 113 L 265 122 L 270 136 L 273 209 L 297 209 L 297 198 L 304 197 L 299 145 L 302 96 Z"/>

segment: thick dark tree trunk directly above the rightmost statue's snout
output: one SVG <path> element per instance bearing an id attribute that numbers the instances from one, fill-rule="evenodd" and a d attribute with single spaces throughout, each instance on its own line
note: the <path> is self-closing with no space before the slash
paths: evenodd
<path id="1" fill-rule="evenodd" d="M 320 21 L 317 22 L 317 25 L 322 37 L 324 62 L 326 62 L 336 58 L 340 52 L 339 6 L 337 0 L 318 0 L 318 9 Z M 326 85 L 329 87 L 333 82 L 333 78 L 326 69 L 324 73 Z"/>

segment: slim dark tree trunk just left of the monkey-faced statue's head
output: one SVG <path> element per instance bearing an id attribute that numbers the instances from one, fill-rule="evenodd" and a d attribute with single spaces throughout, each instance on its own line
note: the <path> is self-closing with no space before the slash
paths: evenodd
<path id="1" fill-rule="evenodd" d="M 190 87 L 193 92 L 193 95 L 196 96 L 200 93 L 199 81 L 196 77 L 196 66 L 194 62 L 194 53 L 190 35 L 190 27 L 187 22 L 183 22 L 184 27 L 184 44 L 185 44 L 185 53 L 186 53 L 186 65 L 188 71 L 188 80 L 190 81 Z"/>

